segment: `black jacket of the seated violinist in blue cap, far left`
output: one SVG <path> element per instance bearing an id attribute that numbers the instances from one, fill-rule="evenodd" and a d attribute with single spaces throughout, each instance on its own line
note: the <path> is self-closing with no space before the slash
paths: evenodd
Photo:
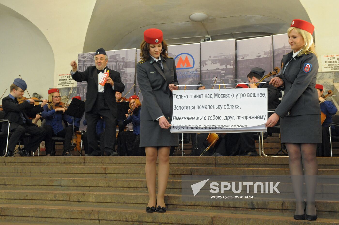
<path id="1" fill-rule="evenodd" d="M 4 119 L 8 119 L 11 122 L 11 126 L 9 130 L 13 130 L 17 128 L 19 125 L 24 124 L 20 115 L 20 111 L 22 111 L 23 116 L 26 119 L 27 125 L 32 125 L 32 121 L 28 119 L 29 117 L 35 117 L 35 115 L 39 112 L 43 111 L 43 108 L 38 105 L 34 106 L 33 104 L 29 104 L 27 101 L 18 104 L 16 99 L 11 99 L 11 97 L 6 96 L 2 99 L 2 108 L 4 111 Z M 28 115 L 28 116 L 27 116 Z M 8 129 L 7 123 L 2 126 L 2 131 L 6 132 Z"/>

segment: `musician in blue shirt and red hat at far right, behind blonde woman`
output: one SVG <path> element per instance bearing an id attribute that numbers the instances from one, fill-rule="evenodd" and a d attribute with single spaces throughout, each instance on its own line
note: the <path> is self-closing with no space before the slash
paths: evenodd
<path id="1" fill-rule="evenodd" d="M 337 108 L 331 101 L 324 100 L 324 87 L 321 84 L 316 84 L 315 88 L 318 92 L 319 102 L 321 102 L 320 110 L 326 115 L 325 121 L 321 124 L 322 142 L 321 144 L 318 144 L 317 156 L 331 156 L 328 126 L 332 123 L 332 115 L 337 113 Z M 336 135 L 334 126 L 331 126 L 331 133 Z"/>

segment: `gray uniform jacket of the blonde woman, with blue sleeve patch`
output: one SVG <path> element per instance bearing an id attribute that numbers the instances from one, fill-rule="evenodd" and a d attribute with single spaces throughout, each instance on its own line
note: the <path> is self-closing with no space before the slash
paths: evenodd
<path id="1" fill-rule="evenodd" d="M 318 93 L 315 88 L 319 68 L 318 59 L 310 50 L 290 61 L 292 54 L 293 51 L 284 55 L 281 61 L 284 95 L 275 113 L 282 118 L 320 114 Z M 286 63 L 288 65 L 283 71 Z"/>

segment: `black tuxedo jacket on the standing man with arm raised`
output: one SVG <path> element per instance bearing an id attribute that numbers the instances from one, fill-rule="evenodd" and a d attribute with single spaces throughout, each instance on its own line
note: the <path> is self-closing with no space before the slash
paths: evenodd
<path id="1" fill-rule="evenodd" d="M 109 69 L 109 77 L 114 81 L 114 90 L 111 84 L 104 86 L 104 98 L 114 117 L 117 117 L 117 102 L 115 100 L 115 92 L 123 92 L 125 85 L 121 83 L 120 73 Z M 95 66 L 88 66 L 86 71 L 76 71 L 72 78 L 78 82 L 87 81 L 87 93 L 85 102 L 85 112 L 92 110 L 98 95 L 98 71 Z"/>

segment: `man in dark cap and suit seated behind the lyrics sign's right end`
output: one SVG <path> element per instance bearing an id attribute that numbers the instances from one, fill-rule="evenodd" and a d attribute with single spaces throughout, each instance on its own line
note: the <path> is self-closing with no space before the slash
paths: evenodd
<path id="1" fill-rule="evenodd" d="M 248 86 L 250 88 L 267 88 L 267 109 L 275 109 L 279 105 L 279 91 L 278 88 L 272 84 L 261 83 L 258 86 L 255 84 L 264 76 L 265 70 L 260 67 L 254 67 L 247 75 L 248 82 L 252 83 Z M 271 113 L 272 114 L 272 113 Z M 271 115 L 269 114 L 268 117 Z M 267 118 L 268 118 L 267 117 Z M 255 140 L 252 132 L 239 133 L 240 135 L 240 151 L 237 156 L 258 156 L 255 150 Z"/>

